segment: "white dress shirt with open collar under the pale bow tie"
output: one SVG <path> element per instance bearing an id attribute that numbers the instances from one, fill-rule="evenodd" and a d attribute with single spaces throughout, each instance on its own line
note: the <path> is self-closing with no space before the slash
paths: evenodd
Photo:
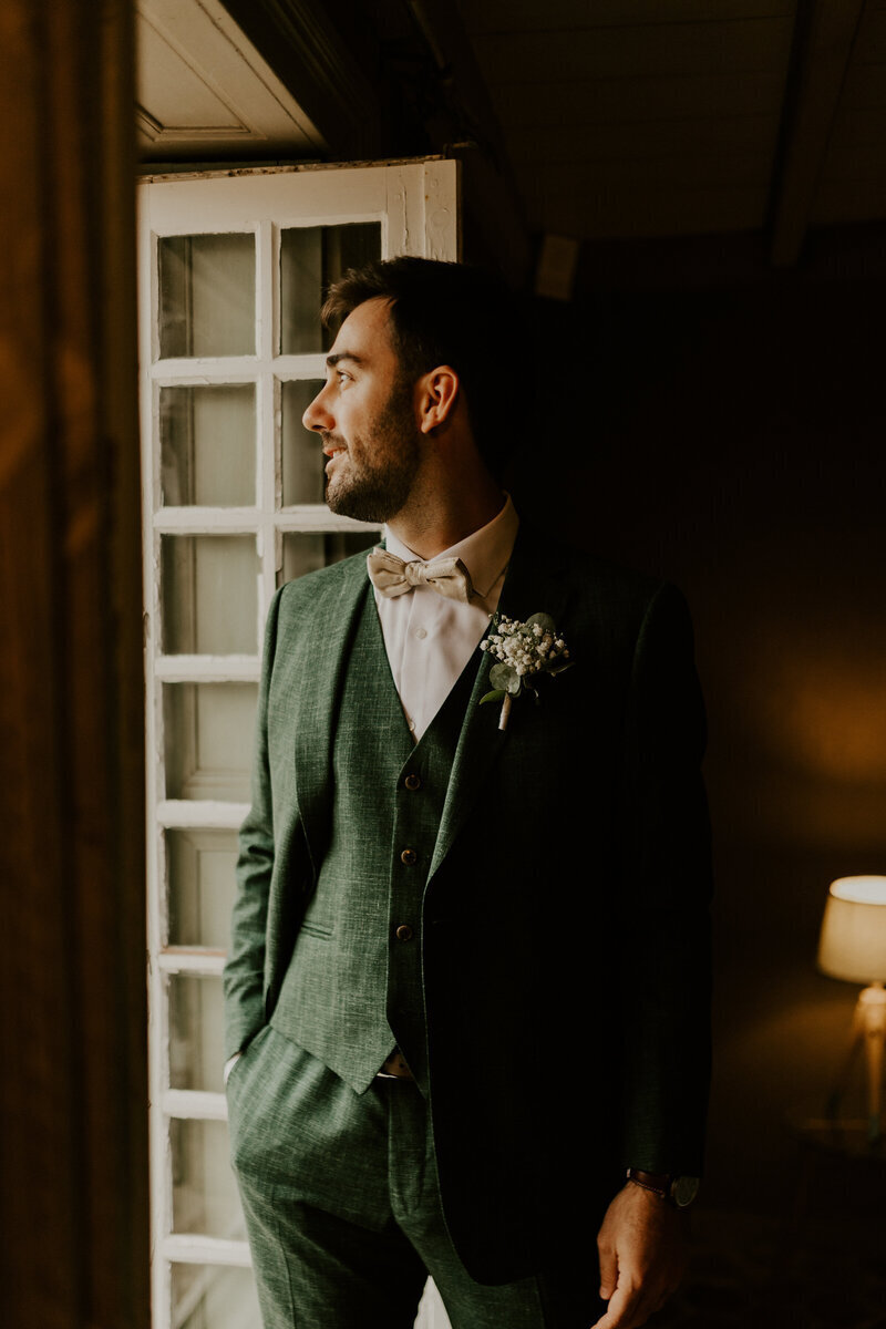
<path id="1" fill-rule="evenodd" d="M 375 593 L 391 672 L 416 743 L 449 696 L 498 607 L 519 525 L 510 494 L 505 498 L 497 517 L 434 556 L 461 558 L 474 589 L 468 605 L 448 599 L 432 586 L 414 586 L 402 595 Z M 418 558 L 393 532 L 388 532 L 385 544 L 404 562 Z"/>

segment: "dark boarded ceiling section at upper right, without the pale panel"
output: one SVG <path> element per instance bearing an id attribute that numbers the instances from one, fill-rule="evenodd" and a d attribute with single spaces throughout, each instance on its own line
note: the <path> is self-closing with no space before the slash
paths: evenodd
<path id="1" fill-rule="evenodd" d="M 537 230 L 594 239 L 760 229 L 770 209 L 782 227 L 800 221 L 785 210 L 805 226 L 886 214 L 886 0 L 461 0 L 461 12 Z"/>

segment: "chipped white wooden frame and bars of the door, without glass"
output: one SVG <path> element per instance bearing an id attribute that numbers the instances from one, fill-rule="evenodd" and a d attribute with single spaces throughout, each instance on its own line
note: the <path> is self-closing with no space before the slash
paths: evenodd
<path id="1" fill-rule="evenodd" d="M 246 1241 L 173 1231 L 170 1122 L 227 1118 L 223 1094 L 174 1090 L 169 1083 L 169 977 L 221 975 L 224 953 L 170 946 L 165 833 L 171 828 L 236 829 L 247 805 L 167 799 L 165 791 L 165 683 L 258 682 L 255 655 L 163 655 L 161 538 L 163 534 L 252 534 L 260 560 L 258 643 L 278 586 L 283 536 L 290 532 L 367 529 L 324 504 L 282 508 L 280 381 L 321 379 L 324 354 L 278 355 L 280 344 L 280 230 L 379 221 L 381 254 L 460 256 L 458 166 L 425 158 L 352 166 L 292 166 L 151 175 L 138 190 L 139 396 L 142 431 L 145 676 L 147 754 L 149 1088 L 151 1154 L 151 1300 L 154 1329 L 173 1329 L 174 1264 L 248 1267 Z M 159 358 L 158 239 L 165 235 L 254 231 L 256 241 L 256 354 L 213 359 Z M 195 383 L 256 385 L 256 502 L 252 508 L 161 505 L 161 387 Z M 421 1322 L 434 1322 L 433 1308 Z M 440 1317 L 437 1318 L 440 1322 Z"/>

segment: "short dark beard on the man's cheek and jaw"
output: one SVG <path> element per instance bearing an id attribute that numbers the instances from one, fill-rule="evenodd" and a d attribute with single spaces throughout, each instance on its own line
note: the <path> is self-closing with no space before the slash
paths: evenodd
<path id="1" fill-rule="evenodd" d="M 324 435 L 324 441 L 336 440 Z M 325 476 L 325 501 L 331 512 L 357 521 L 385 522 L 406 505 L 418 470 L 421 453 L 413 415 L 412 388 L 395 383 L 379 412 L 372 432 L 357 435 L 357 464 L 351 448 L 337 476 Z"/>

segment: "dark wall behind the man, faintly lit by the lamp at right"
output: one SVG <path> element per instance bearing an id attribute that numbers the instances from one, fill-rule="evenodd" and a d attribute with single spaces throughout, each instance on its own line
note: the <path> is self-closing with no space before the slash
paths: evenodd
<path id="1" fill-rule="evenodd" d="M 716 1205 L 774 1212 L 793 1184 L 786 1116 L 821 1111 L 857 995 L 814 969 L 828 885 L 886 870 L 885 294 L 801 271 L 535 311 L 521 508 L 673 579 L 696 622 Z"/>

